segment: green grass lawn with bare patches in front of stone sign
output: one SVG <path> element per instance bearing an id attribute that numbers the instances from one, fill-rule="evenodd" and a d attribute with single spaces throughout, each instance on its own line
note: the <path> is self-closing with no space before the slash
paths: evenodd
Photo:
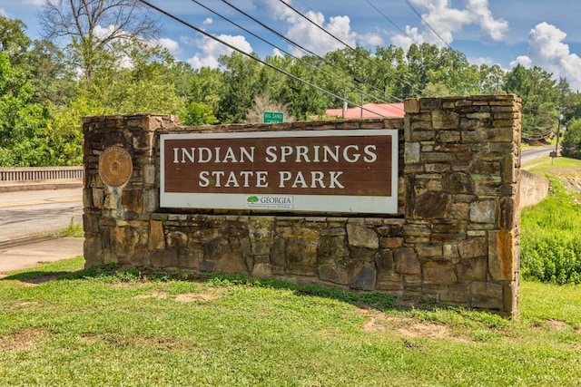
<path id="1" fill-rule="evenodd" d="M 0 385 L 581 384 L 578 286 L 523 283 L 512 322 L 388 295 L 82 267 L 0 280 Z"/>

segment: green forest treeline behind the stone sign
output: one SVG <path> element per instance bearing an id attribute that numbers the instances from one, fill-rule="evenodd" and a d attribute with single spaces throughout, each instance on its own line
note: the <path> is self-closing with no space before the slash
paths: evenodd
<path id="1" fill-rule="evenodd" d="M 0 16 L 0 167 L 80 165 L 85 115 L 171 113 L 199 125 L 258 122 L 263 111 L 283 111 L 293 121 L 324 119 L 344 101 L 494 93 L 523 99 L 525 139 L 566 128 L 563 154 L 581 158 L 581 95 L 539 67 L 507 71 L 470 64 L 448 47 L 412 44 L 259 61 L 233 51 L 218 69 L 193 69 L 148 43 L 159 26 L 147 13 L 96 34 L 100 17 L 110 16 L 66 14 L 74 9 L 64 3 L 48 3 L 39 15 L 44 40 L 32 41 L 25 24 Z M 119 0 L 108 12 L 123 23 L 128 4 L 135 6 Z M 67 15 L 78 23 L 64 23 Z"/>

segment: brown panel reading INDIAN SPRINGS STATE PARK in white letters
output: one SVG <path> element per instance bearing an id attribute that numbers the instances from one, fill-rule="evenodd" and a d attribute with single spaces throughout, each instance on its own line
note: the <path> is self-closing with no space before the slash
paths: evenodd
<path id="1" fill-rule="evenodd" d="M 162 135 L 162 206 L 172 194 L 391 198 L 397 141 L 394 130 Z"/>

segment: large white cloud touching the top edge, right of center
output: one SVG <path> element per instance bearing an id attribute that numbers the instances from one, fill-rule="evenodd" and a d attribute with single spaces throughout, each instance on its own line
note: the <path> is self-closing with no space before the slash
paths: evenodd
<path id="1" fill-rule="evenodd" d="M 391 43 L 408 48 L 410 44 L 436 44 L 438 46 L 452 44 L 454 34 L 462 31 L 468 25 L 478 25 L 482 38 L 499 41 L 508 31 L 508 23 L 503 19 L 495 19 L 488 9 L 488 0 L 468 0 L 465 9 L 451 7 L 450 0 L 410 0 L 417 10 L 424 10 L 423 20 L 428 26 L 420 31 L 417 27 L 406 26 L 406 34 L 396 34 Z M 438 36 L 439 35 L 439 36 Z"/>

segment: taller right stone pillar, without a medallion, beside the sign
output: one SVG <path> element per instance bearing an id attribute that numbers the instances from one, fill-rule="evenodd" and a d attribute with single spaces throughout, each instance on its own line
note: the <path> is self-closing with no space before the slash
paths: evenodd
<path id="1" fill-rule="evenodd" d="M 517 313 L 520 101 L 408 100 L 405 243 L 440 302 Z"/>

